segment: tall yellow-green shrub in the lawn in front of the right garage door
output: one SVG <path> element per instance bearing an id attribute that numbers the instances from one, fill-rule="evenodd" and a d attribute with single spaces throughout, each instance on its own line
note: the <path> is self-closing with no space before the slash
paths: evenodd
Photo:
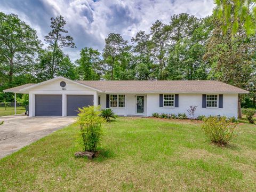
<path id="1" fill-rule="evenodd" d="M 80 126 L 84 150 L 94 152 L 99 145 L 102 136 L 101 123 L 105 122 L 105 119 L 100 116 L 101 111 L 99 106 L 78 109 L 79 113 L 76 123 Z"/>

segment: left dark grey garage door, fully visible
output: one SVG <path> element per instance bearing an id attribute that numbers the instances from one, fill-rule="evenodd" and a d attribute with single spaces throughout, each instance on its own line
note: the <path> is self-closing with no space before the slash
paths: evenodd
<path id="1" fill-rule="evenodd" d="M 62 116 L 62 95 L 35 95 L 36 116 Z"/>

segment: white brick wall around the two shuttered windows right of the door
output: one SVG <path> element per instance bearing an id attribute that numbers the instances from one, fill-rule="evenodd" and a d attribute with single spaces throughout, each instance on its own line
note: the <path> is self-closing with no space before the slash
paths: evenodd
<path id="1" fill-rule="evenodd" d="M 225 115 L 227 117 L 237 118 L 237 94 L 223 94 L 223 108 L 202 108 L 202 94 L 194 93 L 179 93 L 179 107 L 167 108 L 159 107 L 159 94 L 148 95 L 148 110 L 147 116 L 152 116 L 153 113 L 186 113 L 189 106 L 197 106 L 195 116 L 198 115 Z M 189 115 L 188 115 L 189 116 Z"/>

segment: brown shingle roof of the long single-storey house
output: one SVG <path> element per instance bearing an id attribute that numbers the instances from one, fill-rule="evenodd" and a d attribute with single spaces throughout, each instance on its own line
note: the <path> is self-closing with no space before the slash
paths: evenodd
<path id="1" fill-rule="evenodd" d="M 219 81 L 75 81 L 106 93 L 249 93 Z M 4 92 L 22 93 L 25 84 Z"/>

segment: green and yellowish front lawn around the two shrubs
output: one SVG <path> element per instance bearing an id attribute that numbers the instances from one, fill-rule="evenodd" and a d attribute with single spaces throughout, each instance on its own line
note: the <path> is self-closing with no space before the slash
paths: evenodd
<path id="1" fill-rule="evenodd" d="M 70 125 L 0 160 L 3 191 L 255 191 L 256 125 L 239 124 L 228 147 L 201 123 L 117 118 L 105 124 L 100 154 L 75 158 Z"/>

